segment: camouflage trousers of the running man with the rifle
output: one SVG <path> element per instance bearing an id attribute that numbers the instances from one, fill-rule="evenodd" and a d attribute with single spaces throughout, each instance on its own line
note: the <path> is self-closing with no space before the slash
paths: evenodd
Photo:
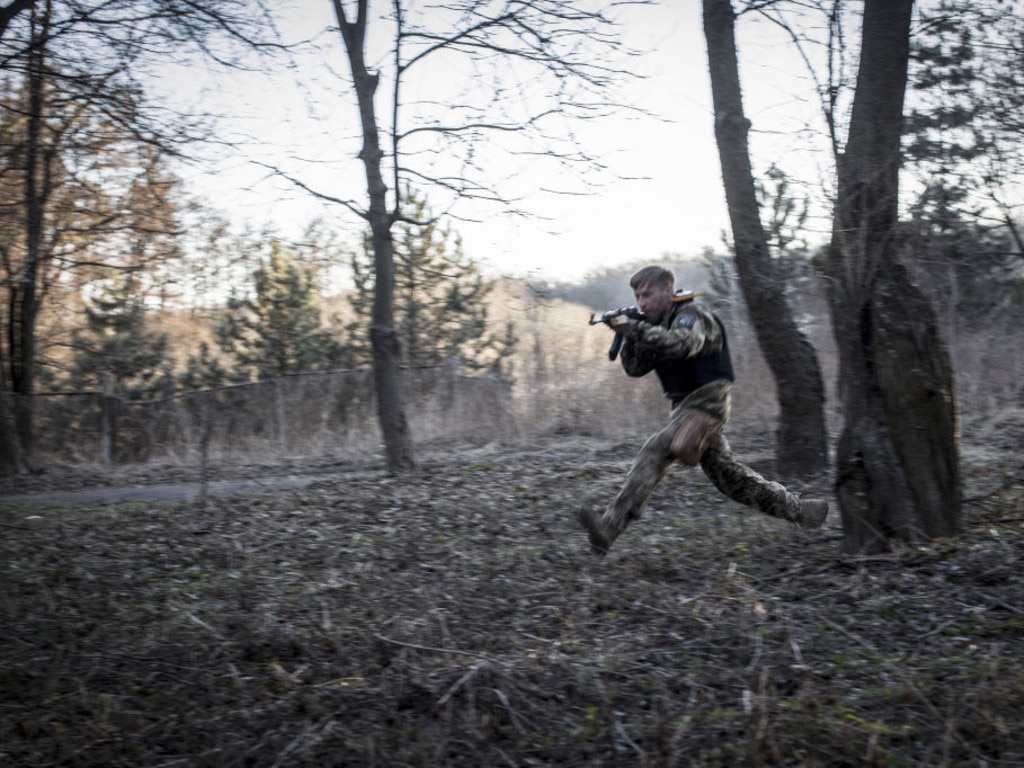
<path id="1" fill-rule="evenodd" d="M 723 380 L 693 391 L 672 410 L 668 424 L 647 439 L 633 462 L 622 489 L 604 512 L 602 522 L 614 536 L 643 515 L 654 488 L 676 462 L 671 452 L 672 439 L 684 420 L 694 412 L 710 416 L 718 427 L 700 458 L 700 468 L 715 487 L 733 501 L 772 517 L 796 518 L 800 511 L 797 495 L 777 482 L 765 479 L 733 458 L 721 431 L 729 420 L 731 389 L 731 382 Z"/>

